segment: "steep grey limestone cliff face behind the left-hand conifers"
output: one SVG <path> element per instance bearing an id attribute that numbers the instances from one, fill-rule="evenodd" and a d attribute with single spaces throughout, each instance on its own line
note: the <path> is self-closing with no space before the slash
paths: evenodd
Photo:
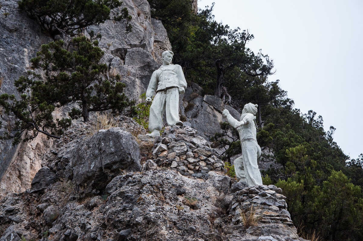
<path id="1" fill-rule="evenodd" d="M 109 66 L 109 75 L 120 74 L 127 85 L 126 94 L 137 100 L 161 64 L 161 53 L 171 50 L 171 45 L 161 22 L 151 19 L 147 0 L 124 0 L 123 7 L 132 16 L 132 32 L 125 32 L 124 22 L 112 20 L 88 29 L 102 35 L 99 47 L 105 52 L 102 62 Z M 3 13 L 9 14 L 5 17 Z M 0 94 L 14 94 L 14 81 L 28 70 L 40 46 L 52 39 L 18 10 L 17 0 L 1 3 L 0 16 Z M 65 115 L 66 111 L 61 111 L 59 117 Z M 30 188 L 41 168 L 41 156 L 51 145 L 52 141 L 41 134 L 29 144 L 12 146 L 11 141 L 0 141 L 0 196 Z"/>

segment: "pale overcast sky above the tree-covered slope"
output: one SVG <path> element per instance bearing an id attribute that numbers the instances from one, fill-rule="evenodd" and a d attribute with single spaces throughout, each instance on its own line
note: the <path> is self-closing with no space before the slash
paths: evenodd
<path id="1" fill-rule="evenodd" d="M 362 0 L 198 0 L 215 20 L 254 35 L 248 47 L 274 60 L 295 108 L 321 115 L 345 154 L 363 153 Z"/>

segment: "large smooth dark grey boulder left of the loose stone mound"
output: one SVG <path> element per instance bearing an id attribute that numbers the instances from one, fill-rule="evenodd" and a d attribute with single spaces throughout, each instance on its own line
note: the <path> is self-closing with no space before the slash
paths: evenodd
<path id="1" fill-rule="evenodd" d="M 130 132 L 114 127 L 58 154 L 57 169 L 73 180 L 78 192 L 98 193 L 122 170 L 141 171 L 140 149 Z"/>

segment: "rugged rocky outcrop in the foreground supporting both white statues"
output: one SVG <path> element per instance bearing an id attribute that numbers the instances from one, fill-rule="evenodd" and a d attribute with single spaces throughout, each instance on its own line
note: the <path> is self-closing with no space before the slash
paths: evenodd
<path id="1" fill-rule="evenodd" d="M 197 130 L 153 140 L 121 119 L 94 134 L 74 124 L 54 142 L 32 187 L 0 201 L 0 241 L 303 240 L 282 190 L 236 183 Z"/>

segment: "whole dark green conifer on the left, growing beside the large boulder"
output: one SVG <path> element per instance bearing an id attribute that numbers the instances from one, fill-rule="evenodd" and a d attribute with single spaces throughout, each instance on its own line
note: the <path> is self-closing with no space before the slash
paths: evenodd
<path id="1" fill-rule="evenodd" d="M 6 129 L 1 139 L 13 139 L 15 145 L 32 140 L 39 132 L 60 138 L 71 119 L 89 121 L 89 112 L 120 113 L 133 104 L 123 93 L 126 85 L 120 76 L 109 78 L 107 65 L 99 63 L 104 54 L 98 47 L 100 37 L 91 33 L 90 38 L 73 38 L 69 46 L 62 40 L 42 45 L 31 59 L 35 71 L 15 81 L 20 98 L 0 96 L 0 109 L 5 114 L 0 126 Z M 70 118 L 54 118 L 56 109 L 70 105 L 76 106 L 68 112 Z"/>

